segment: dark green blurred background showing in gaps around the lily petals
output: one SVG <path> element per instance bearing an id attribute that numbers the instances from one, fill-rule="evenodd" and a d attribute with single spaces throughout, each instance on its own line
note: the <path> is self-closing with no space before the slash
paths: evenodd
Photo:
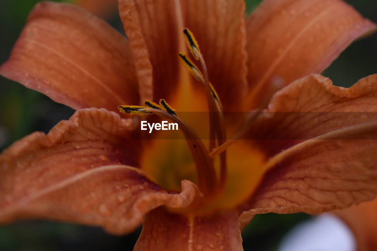
<path id="1" fill-rule="evenodd" d="M 310 0 L 308 0 L 310 1 Z M 11 48 L 26 17 L 38 0 L 0 0 L 0 64 Z M 72 2 L 72 1 L 60 1 Z M 245 0 L 247 13 L 261 0 Z M 377 22 L 377 1 L 346 0 L 363 16 Z M 117 15 L 109 17 L 119 31 Z M 122 31 L 123 32 L 123 31 Z M 349 87 L 362 77 L 377 73 L 377 34 L 351 44 L 322 74 L 338 86 Z M 13 141 L 36 130 L 48 132 L 58 121 L 69 119 L 74 110 L 57 104 L 47 96 L 0 77 L 0 151 Z M 244 248 L 273 251 L 279 240 L 306 214 L 264 214 L 254 218 L 244 231 Z M 23 221 L 0 227 L 0 250 L 132 250 L 140 229 L 128 236 L 111 236 L 101 228 L 68 223 Z"/>

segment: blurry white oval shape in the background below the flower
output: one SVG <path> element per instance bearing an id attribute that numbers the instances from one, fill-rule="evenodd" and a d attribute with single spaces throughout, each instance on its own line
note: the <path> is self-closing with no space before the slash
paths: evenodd
<path id="1" fill-rule="evenodd" d="M 333 214 L 298 224 L 283 238 L 278 251 L 356 251 L 356 239 Z"/>

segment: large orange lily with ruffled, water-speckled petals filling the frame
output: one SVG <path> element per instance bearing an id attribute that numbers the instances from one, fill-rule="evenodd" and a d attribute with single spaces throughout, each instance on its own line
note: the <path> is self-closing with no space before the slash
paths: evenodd
<path id="1" fill-rule="evenodd" d="M 257 213 L 322 213 L 375 197 L 377 75 L 345 89 L 315 74 L 375 24 L 340 0 L 265 0 L 246 21 L 243 0 L 118 2 L 128 40 L 80 8 L 42 2 L 0 67 L 77 109 L 0 155 L 1 223 L 127 234 L 145 214 L 135 250 L 242 250 L 241 229 Z M 202 73 L 178 63 L 188 47 Z M 195 138 L 198 121 L 191 129 L 179 118 L 221 114 L 220 101 L 225 112 L 267 107 L 245 124 L 260 140 L 224 142 L 234 125 L 213 116 L 209 151 Z M 132 139 L 118 106 L 177 121 L 187 142 Z"/>

